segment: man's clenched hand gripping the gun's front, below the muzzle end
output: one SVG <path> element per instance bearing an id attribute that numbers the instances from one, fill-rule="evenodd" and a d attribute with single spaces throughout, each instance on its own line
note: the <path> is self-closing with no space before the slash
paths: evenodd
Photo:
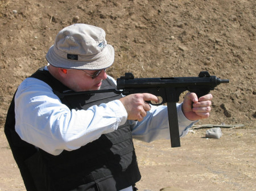
<path id="1" fill-rule="evenodd" d="M 212 94 L 207 94 L 197 98 L 195 93 L 189 92 L 185 95 L 182 111 L 188 120 L 200 120 L 210 116 L 210 105 L 212 104 Z"/>

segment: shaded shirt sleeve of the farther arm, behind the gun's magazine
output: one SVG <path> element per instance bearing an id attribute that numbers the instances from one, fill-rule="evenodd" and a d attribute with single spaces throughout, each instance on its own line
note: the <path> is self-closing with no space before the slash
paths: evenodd
<path id="1" fill-rule="evenodd" d="M 180 137 L 187 135 L 189 128 L 197 121 L 188 120 L 181 111 L 182 104 L 177 105 L 177 117 L 179 122 Z M 167 106 L 151 106 L 143 121 L 130 121 L 132 133 L 135 139 L 151 142 L 157 139 L 170 139 Z"/>

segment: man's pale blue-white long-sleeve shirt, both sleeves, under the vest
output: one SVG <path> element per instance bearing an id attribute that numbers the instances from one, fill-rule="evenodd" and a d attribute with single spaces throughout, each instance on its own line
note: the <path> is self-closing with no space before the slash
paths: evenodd
<path id="1" fill-rule="evenodd" d="M 108 78 L 114 80 L 113 78 Z M 195 121 L 189 121 L 177 104 L 180 137 Z M 36 78 L 25 79 L 15 95 L 15 130 L 20 138 L 44 151 L 59 155 L 76 150 L 125 124 L 127 112 L 121 101 L 114 100 L 87 110 L 70 110 L 52 88 Z M 141 122 L 130 121 L 134 138 L 151 142 L 170 138 L 166 106 L 154 106 Z"/>

